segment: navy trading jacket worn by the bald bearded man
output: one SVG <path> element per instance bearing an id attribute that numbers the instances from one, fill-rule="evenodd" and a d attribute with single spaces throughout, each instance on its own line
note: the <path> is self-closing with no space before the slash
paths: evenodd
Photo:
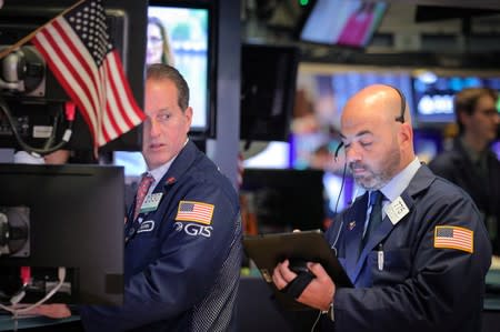
<path id="1" fill-rule="evenodd" d="M 354 289 L 337 290 L 334 324 L 323 318 L 323 330 L 481 331 L 491 247 L 470 197 L 422 165 L 401 194 L 408 214 L 396 224 L 386 217 L 359 253 L 367 197 L 326 233 Z M 473 252 L 434 248 L 437 225 L 473 231 Z"/>

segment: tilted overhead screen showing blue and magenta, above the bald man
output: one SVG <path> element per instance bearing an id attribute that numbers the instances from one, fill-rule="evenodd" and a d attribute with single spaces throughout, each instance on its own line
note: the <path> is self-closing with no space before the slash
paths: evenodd
<path id="1" fill-rule="evenodd" d="M 362 0 L 318 0 L 300 32 L 303 41 L 366 47 L 388 6 Z"/>

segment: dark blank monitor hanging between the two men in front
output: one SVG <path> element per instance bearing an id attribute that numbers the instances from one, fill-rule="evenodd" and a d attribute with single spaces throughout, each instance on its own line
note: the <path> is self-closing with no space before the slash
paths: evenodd
<path id="1" fill-rule="evenodd" d="M 241 140 L 288 141 L 298 64 L 296 47 L 242 46 Z"/>

